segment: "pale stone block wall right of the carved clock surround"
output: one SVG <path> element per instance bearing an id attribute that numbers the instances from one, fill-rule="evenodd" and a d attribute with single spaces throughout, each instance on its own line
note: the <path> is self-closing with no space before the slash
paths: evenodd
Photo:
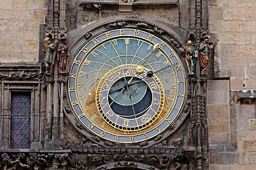
<path id="1" fill-rule="evenodd" d="M 210 0 L 209 28 L 215 77 L 208 81 L 210 169 L 256 169 L 255 98 L 241 97 L 256 84 L 255 0 Z M 225 79 L 227 78 L 227 79 Z"/>

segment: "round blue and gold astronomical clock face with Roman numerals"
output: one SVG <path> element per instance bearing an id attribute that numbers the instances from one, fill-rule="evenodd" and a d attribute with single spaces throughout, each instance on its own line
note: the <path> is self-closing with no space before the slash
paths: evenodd
<path id="1" fill-rule="evenodd" d="M 183 64 L 164 40 L 134 28 L 110 30 L 74 57 L 68 96 L 80 123 L 113 142 L 149 140 L 174 122 L 186 94 Z"/>

